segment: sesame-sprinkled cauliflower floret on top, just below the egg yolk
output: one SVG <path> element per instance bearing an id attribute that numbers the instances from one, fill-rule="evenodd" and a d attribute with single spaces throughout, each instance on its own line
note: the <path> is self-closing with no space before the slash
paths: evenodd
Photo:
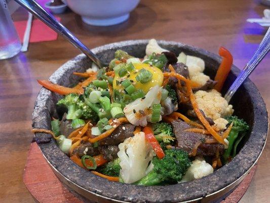
<path id="1" fill-rule="evenodd" d="M 160 104 L 162 87 L 156 85 L 152 87 L 144 99 L 137 98 L 132 103 L 129 103 L 124 108 L 125 116 L 133 125 L 146 126 L 147 121 L 150 121 L 152 116 L 151 107 L 153 104 Z M 161 121 L 161 116 L 159 121 Z"/>

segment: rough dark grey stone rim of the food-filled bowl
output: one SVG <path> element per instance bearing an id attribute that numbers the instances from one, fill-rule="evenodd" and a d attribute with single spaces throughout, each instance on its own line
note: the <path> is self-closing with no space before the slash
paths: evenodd
<path id="1" fill-rule="evenodd" d="M 145 45 L 147 42 L 148 40 L 123 41 L 100 46 L 93 49 L 92 51 L 94 53 L 98 53 L 115 47 L 121 48 L 127 45 L 132 46 L 138 44 Z M 221 61 L 221 58 L 218 55 L 210 53 L 204 49 L 199 49 L 171 41 L 158 41 L 158 43 L 161 45 L 188 47 L 194 52 L 204 54 L 218 62 Z M 83 54 L 80 54 L 75 58 L 67 61 L 50 77 L 50 80 L 55 83 L 58 82 L 61 79 L 63 73 L 67 71 L 68 66 L 71 67 L 74 64 L 74 61 L 81 60 L 84 57 L 85 56 Z M 237 76 L 239 72 L 239 69 L 233 65 L 232 73 Z M 44 156 L 55 168 L 55 170 L 57 170 L 67 180 L 73 182 L 75 185 L 78 185 L 84 190 L 90 193 L 94 193 L 98 196 L 127 202 L 179 202 L 201 198 L 206 195 L 215 193 L 222 188 L 233 184 L 235 181 L 241 178 L 256 163 L 265 145 L 268 120 L 264 101 L 258 89 L 254 83 L 251 82 L 251 80 L 247 79 L 243 85 L 246 89 L 248 89 L 248 93 L 252 99 L 252 103 L 254 104 L 254 124 L 250 133 L 249 140 L 241 149 L 239 154 L 237 154 L 237 156 L 231 162 L 222 166 L 215 173 L 192 182 L 152 187 L 141 187 L 118 182 L 110 182 L 106 179 L 95 176 L 80 166 L 74 164 L 60 151 L 60 149 L 56 146 L 55 141 L 52 140 L 48 144 L 40 144 L 39 146 Z M 44 121 L 42 119 L 47 119 L 46 122 L 49 122 L 47 118 L 48 116 L 44 116 L 44 112 L 49 111 L 49 108 L 46 105 L 48 104 L 48 100 L 51 99 L 51 96 L 52 93 L 45 88 L 42 88 L 38 94 L 33 111 L 33 127 L 44 126 L 41 123 L 41 121 Z M 38 138 L 39 136 L 44 136 L 44 133 L 35 134 L 35 137 Z M 260 143 L 257 143 L 257 140 L 259 140 Z M 254 146 L 252 143 L 257 143 L 257 145 Z M 51 153 L 52 151 L 55 153 Z M 250 159 L 250 153 L 254 154 L 252 159 Z M 63 164 L 65 164 L 65 166 L 63 166 Z M 242 167 L 243 165 L 245 167 Z M 232 170 L 232 168 L 239 168 L 239 170 Z M 74 173 L 74 170 L 76 173 Z M 228 176 L 227 174 L 230 175 Z M 112 189 L 110 190 L 108 188 Z M 134 191 L 136 192 L 134 193 Z"/>

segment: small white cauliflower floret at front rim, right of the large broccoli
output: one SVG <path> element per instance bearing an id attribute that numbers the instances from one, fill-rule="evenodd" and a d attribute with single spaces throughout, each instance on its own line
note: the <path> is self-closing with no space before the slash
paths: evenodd
<path id="1" fill-rule="evenodd" d="M 214 172 L 213 167 L 201 158 L 196 158 L 192 161 L 181 183 L 200 179 Z"/>

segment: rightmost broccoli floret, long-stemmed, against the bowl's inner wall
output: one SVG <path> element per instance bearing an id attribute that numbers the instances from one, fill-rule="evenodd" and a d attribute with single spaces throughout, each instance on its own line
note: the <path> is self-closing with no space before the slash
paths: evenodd
<path id="1" fill-rule="evenodd" d="M 234 125 L 227 137 L 227 140 L 229 141 L 228 148 L 223 154 L 223 160 L 226 163 L 228 161 L 228 158 L 232 156 L 232 151 L 236 143 L 235 141 L 239 136 L 244 135 L 248 131 L 249 125 L 243 119 L 240 119 L 237 116 L 227 116 L 225 117 L 225 119 L 228 121 L 228 124 L 234 122 Z"/>

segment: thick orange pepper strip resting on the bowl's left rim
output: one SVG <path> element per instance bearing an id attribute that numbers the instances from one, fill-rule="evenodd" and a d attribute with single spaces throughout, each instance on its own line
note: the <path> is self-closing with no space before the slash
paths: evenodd
<path id="1" fill-rule="evenodd" d="M 37 82 L 40 83 L 43 87 L 61 95 L 66 95 L 70 93 L 79 93 L 78 89 L 57 85 L 57 84 L 52 83 L 49 80 L 37 80 Z"/>

